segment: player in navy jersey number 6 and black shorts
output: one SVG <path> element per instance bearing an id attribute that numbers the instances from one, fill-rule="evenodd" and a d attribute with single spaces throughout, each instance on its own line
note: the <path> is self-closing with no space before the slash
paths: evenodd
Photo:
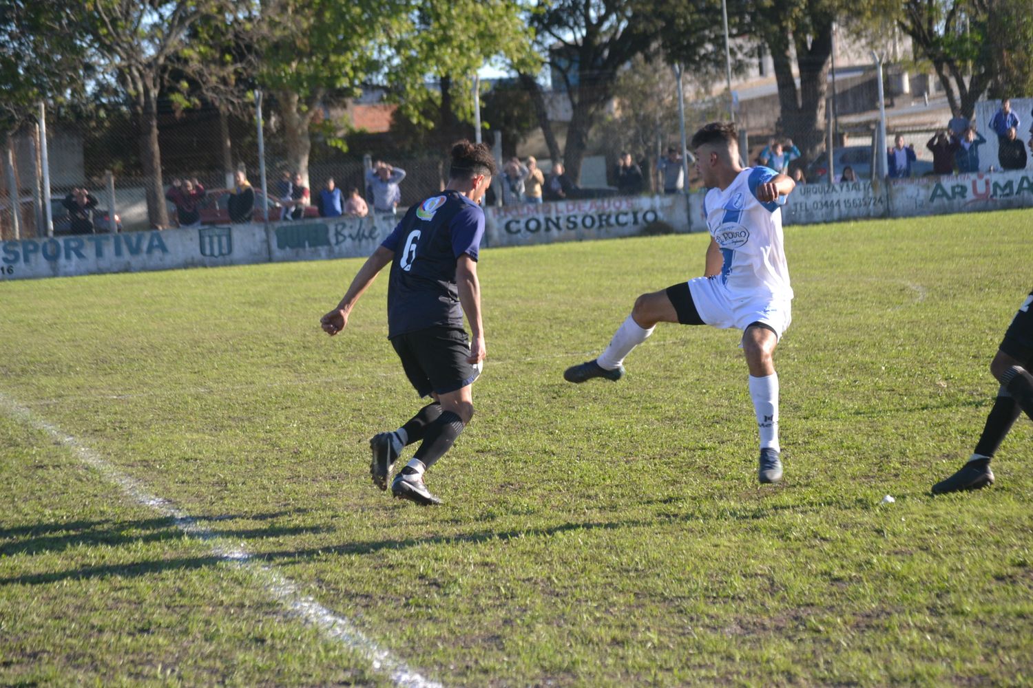
<path id="1" fill-rule="evenodd" d="M 432 401 L 399 429 L 370 439 L 370 473 L 373 483 L 386 490 L 402 450 L 420 441 L 390 485 L 396 497 L 417 504 L 441 503 L 427 489 L 424 473 L 473 417 L 471 385 L 486 355 L 477 282 L 484 211 L 478 203 L 495 173 L 487 145 L 456 143 L 448 186 L 409 208 L 359 268 L 341 302 L 320 320 L 331 336 L 343 330 L 358 297 L 390 263 L 387 338 L 416 392 Z M 470 337 L 463 329 L 464 313 Z"/>

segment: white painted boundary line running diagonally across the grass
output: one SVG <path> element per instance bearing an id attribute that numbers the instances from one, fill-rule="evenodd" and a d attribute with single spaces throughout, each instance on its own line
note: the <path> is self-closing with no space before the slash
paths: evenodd
<path id="1" fill-rule="evenodd" d="M 424 678 L 404 661 L 378 646 L 363 634 L 346 617 L 332 611 L 305 595 L 290 579 L 272 566 L 255 560 L 241 545 L 217 535 L 189 515 L 180 511 L 173 502 L 151 494 L 143 483 L 126 476 L 105 461 L 99 454 L 84 446 L 71 435 L 65 434 L 46 421 L 38 418 L 30 409 L 0 392 L 0 406 L 7 416 L 41 430 L 59 444 L 68 448 L 87 466 L 100 473 L 108 482 L 122 488 L 133 501 L 150 506 L 162 516 L 171 519 L 188 535 L 205 542 L 218 558 L 240 566 L 250 574 L 265 590 L 270 597 L 282 603 L 290 616 L 316 626 L 323 635 L 356 652 L 369 661 L 373 669 L 387 675 L 396 686 L 404 688 L 440 688 L 441 684 Z"/>

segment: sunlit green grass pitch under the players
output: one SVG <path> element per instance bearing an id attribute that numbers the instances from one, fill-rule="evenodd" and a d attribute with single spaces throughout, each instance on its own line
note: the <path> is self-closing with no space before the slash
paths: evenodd
<path id="1" fill-rule="evenodd" d="M 369 480 L 418 407 L 384 276 L 319 331 L 359 261 L 0 284 L 0 684 L 393 684 L 258 565 L 444 685 L 1033 682 L 1033 423 L 992 489 L 929 496 L 992 405 L 1031 236 L 1030 210 L 788 228 L 764 488 L 733 331 L 561 376 L 706 236 L 484 251 L 489 361 L 433 510 Z"/>

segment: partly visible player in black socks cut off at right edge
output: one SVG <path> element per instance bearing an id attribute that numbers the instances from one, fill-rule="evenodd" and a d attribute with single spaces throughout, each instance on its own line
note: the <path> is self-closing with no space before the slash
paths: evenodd
<path id="1" fill-rule="evenodd" d="M 990 371 L 1001 383 L 994 407 L 972 457 L 950 478 L 933 486 L 933 494 L 978 490 L 994 484 L 990 460 L 1020 414 L 1033 419 L 1033 292 L 1026 297 L 1004 333 Z"/>

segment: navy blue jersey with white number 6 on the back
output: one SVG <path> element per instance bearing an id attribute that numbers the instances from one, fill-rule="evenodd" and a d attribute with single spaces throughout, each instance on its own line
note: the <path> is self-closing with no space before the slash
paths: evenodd
<path id="1" fill-rule="evenodd" d="M 387 337 L 428 327 L 463 327 L 456 261 L 477 260 L 484 211 L 458 191 L 413 205 L 386 239 L 395 252 L 387 286 Z"/>

